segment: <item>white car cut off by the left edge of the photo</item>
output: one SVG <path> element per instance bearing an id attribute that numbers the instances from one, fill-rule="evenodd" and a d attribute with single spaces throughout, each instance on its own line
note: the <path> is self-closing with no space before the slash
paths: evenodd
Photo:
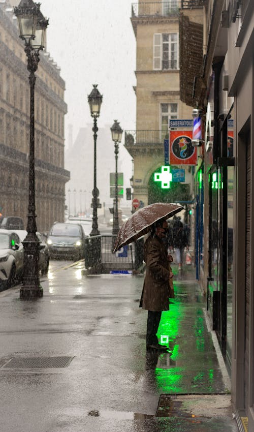
<path id="1" fill-rule="evenodd" d="M 23 245 L 16 232 L 0 230 L 0 286 L 11 287 L 23 272 Z"/>

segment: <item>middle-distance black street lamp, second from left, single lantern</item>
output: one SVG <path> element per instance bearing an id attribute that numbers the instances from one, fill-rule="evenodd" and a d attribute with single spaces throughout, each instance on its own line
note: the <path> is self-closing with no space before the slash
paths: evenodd
<path id="1" fill-rule="evenodd" d="M 94 142 L 94 152 L 93 152 L 93 191 L 92 191 L 92 230 L 90 235 L 99 235 L 100 231 L 98 230 L 98 217 L 97 217 L 97 208 L 99 207 L 99 189 L 97 189 L 96 184 L 96 143 L 97 143 L 97 118 L 100 116 L 100 110 L 102 105 L 102 95 L 100 94 L 98 88 L 98 84 L 93 84 L 93 89 L 88 96 L 88 103 L 90 106 L 90 113 L 93 118 L 93 142 Z"/>

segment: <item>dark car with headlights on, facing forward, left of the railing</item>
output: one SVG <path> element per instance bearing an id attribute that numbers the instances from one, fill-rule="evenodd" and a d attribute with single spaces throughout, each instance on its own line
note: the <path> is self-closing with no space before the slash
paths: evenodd
<path id="1" fill-rule="evenodd" d="M 47 238 L 50 258 L 84 258 L 86 237 L 80 224 L 55 222 Z"/>

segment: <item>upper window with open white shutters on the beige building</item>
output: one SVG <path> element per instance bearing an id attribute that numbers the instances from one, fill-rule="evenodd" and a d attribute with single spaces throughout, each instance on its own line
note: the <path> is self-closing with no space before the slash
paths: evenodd
<path id="1" fill-rule="evenodd" d="M 179 69 L 178 33 L 155 33 L 153 35 L 153 69 Z"/>

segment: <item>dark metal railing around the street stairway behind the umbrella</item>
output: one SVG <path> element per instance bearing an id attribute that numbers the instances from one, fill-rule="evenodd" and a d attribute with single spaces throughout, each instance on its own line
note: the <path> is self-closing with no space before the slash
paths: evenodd
<path id="1" fill-rule="evenodd" d="M 128 244 L 113 253 L 115 235 L 96 235 L 86 238 L 85 267 L 91 272 L 108 273 L 110 270 L 137 270 L 143 263 L 143 239 L 135 246 Z M 98 271 L 97 271 L 97 270 Z"/>

